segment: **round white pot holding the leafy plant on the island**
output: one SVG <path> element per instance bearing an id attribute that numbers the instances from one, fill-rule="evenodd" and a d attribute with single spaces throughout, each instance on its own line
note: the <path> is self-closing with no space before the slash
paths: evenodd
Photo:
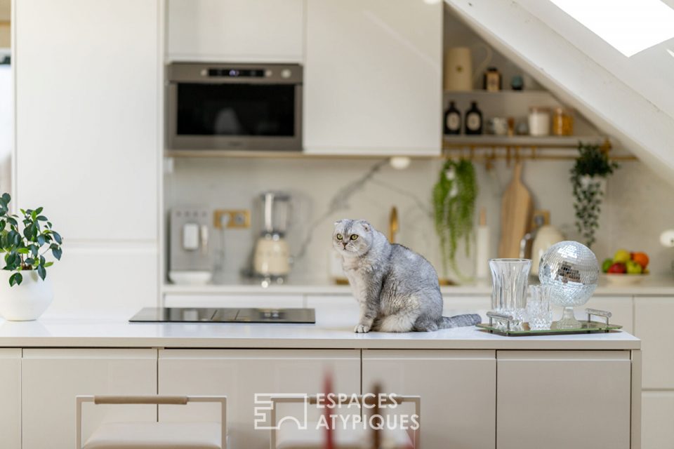
<path id="1" fill-rule="evenodd" d="M 54 295 L 51 281 L 44 281 L 34 270 L 21 272 L 20 286 L 9 286 L 9 277 L 15 272 L 0 270 L 0 316 L 8 321 L 32 321 L 49 307 Z"/>

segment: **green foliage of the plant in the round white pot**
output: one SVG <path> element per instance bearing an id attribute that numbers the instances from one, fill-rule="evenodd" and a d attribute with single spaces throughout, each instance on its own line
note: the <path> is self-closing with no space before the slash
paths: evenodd
<path id="1" fill-rule="evenodd" d="M 15 272 L 9 277 L 9 286 L 20 285 L 23 280 L 21 272 L 28 270 L 36 270 L 44 281 L 46 269 L 54 263 L 47 262 L 44 255 L 51 251 L 51 255 L 60 260 L 61 236 L 51 229 L 48 218 L 41 215 L 42 208 L 21 209 L 21 215 L 10 214 L 10 201 L 9 194 L 0 196 L 0 253 L 5 253 L 4 269 Z"/>

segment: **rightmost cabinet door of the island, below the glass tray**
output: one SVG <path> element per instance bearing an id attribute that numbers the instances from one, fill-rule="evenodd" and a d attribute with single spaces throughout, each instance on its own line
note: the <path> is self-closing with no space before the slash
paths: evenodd
<path id="1" fill-rule="evenodd" d="M 630 351 L 498 351 L 498 449 L 630 448 Z"/>

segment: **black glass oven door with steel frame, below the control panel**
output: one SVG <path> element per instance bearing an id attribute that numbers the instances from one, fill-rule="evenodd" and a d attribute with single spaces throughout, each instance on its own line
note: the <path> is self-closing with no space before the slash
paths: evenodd
<path id="1" fill-rule="evenodd" d="M 300 85 L 180 82 L 172 87 L 174 148 L 300 149 Z"/>

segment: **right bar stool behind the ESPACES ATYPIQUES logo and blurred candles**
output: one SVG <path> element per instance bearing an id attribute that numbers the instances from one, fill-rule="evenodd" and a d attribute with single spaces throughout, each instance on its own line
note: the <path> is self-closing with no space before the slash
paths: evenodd
<path id="1" fill-rule="evenodd" d="M 364 396 L 356 396 L 356 400 L 362 405 L 364 403 L 370 405 L 371 398 L 364 398 Z M 282 417 L 277 419 L 277 403 L 306 403 L 307 405 L 316 405 L 318 403 L 317 396 L 272 396 L 270 398 L 271 406 L 271 422 L 272 430 L 270 435 L 270 449 L 323 449 L 325 445 L 324 428 L 319 428 L 317 422 L 307 422 L 303 428 L 299 428 L 298 420 L 295 418 Z M 351 403 L 352 399 L 349 397 L 346 401 L 335 401 L 338 405 L 343 403 Z M 417 422 L 421 426 L 421 396 L 395 396 L 386 398 L 382 401 L 389 406 L 397 406 L 402 403 L 413 403 L 414 414 Z M 418 448 L 420 444 L 420 429 L 414 431 L 413 436 L 409 436 L 404 429 L 385 429 L 381 431 L 379 438 L 379 448 L 388 449 L 414 449 Z M 333 447 L 335 449 L 362 449 L 364 442 L 371 439 L 371 429 L 364 427 L 345 427 L 343 429 L 336 429 L 333 431 Z"/>

